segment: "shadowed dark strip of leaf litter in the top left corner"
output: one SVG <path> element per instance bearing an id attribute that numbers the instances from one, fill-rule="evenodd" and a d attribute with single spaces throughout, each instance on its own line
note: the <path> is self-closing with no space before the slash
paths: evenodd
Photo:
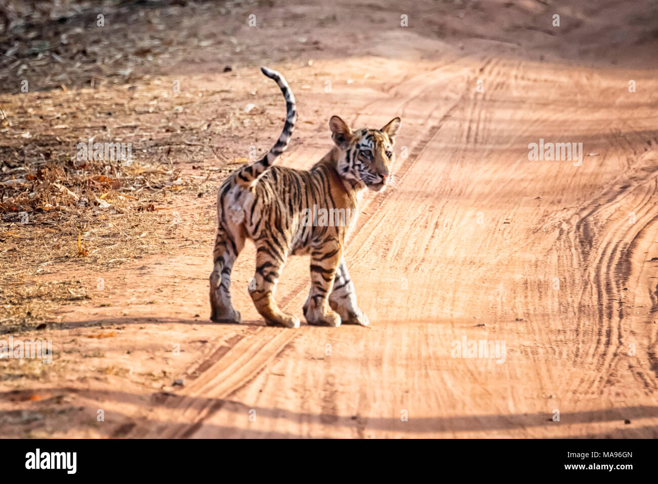
<path id="1" fill-rule="evenodd" d="M 0 92 L 20 92 L 22 80 L 29 81 L 30 92 L 135 82 L 204 51 L 235 58 L 231 29 L 199 32 L 198 19 L 236 16 L 255 3 L 4 0 Z"/>

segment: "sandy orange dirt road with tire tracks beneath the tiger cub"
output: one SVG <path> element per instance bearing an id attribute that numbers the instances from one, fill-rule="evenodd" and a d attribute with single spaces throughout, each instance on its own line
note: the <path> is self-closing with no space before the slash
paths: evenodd
<path id="1" fill-rule="evenodd" d="M 63 348 L 93 343 L 106 366 L 130 372 L 97 379 L 82 367 L 70 370 L 70 381 L 29 384 L 45 397 L 22 402 L 28 410 L 53 410 L 49 399 L 63 394 L 81 409 L 53 410 L 33 433 L 658 437 L 658 70 L 640 57 L 624 59 L 619 40 L 601 36 L 600 52 L 586 49 L 606 30 L 610 11 L 583 14 L 578 28 L 565 14 L 563 35 L 547 7 L 527 5 L 525 14 L 544 18 L 553 33 L 528 31 L 520 46 L 509 32 L 454 41 L 413 28 L 376 32 L 387 14 L 397 22 L 390 9 L 369 18 L 364 33 L 356 20 L 339 19 L 349 46 L 337 41 L 311 66 L 272 63 L 290 72 L 299 102 L 286 166 L 309 167 L 330 149 L 330 115 L 357 127 L 403 120 L 395 184 L 368 194 L 347 249 L 370 328 L 265 327 L 246 289 L 253 246 L 234 267 L 243 325 L 209 323 L 213 226 L 191 232 L 184 222 L 179 233 L 189 243 L 103 273 L 107 290 L 93 310 L 63 313 L 68 326 L 55 335 Z M 507 18 L 502 5 L 487 8 L 494 23 Z M 464 22 L 476 30 L 482 22 L 471 13 Z M 291 6 L 266 15 L 276 17 L 266 16 L 262 38 L 291 29 L 278 20 L 301 25 L 311 11 Z M 445 30 L 452 21 L 444 20 Z M 299 36 L 333 41 L 313 30 Z M 213 82 L 205 73 L 190 78 L 195 87 Z M 263 92 L 272 94 L 267 109 L 282 116 L 275 86 L 264 82 Z M 582 159 L 528 159 L 528 144 L 540 140 L 580 143 Z M 212 194 L 182 200 L 184 221 L 213 214 Z M 290 259 L 277 288 L 282 309 L 301 316 L 308 280 L 307 259 Z M 113 306 L 99 306 L 110 299 Z M 120 331 L 90 342 L 82 339 L 90 321 Z M 468 342 L 481 340 L 501 353 L 467 352 Z M 180 355 L 171 353 L 176 344 Z M 136 377 L 163 367 L 184 386 L 155 391 Z M 93 421 L 97 408 L 104 422 Z"/>

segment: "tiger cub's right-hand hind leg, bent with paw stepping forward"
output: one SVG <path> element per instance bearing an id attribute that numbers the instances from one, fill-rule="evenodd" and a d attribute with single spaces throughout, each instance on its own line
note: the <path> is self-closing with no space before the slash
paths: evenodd
<path id="1" fill-rule="evenodd" d="M 255 282 L 249 284 L 249 295 L 268 326 L 298 328 L 299 318 L 281 311 L 274 300 L 276 281 L 285 261 L 278 252 L 272 252 L 271 246 L 257 244 Z"/>

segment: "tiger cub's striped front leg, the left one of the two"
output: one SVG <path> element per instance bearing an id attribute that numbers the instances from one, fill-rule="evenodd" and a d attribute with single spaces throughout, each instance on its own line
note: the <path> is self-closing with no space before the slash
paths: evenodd
<path id="1" fill-rule="evenodd" d="M 340 326 L 340 315 L 329 306 L 329 294 L 341 259 L 342 247 L 336 239 L 311 252 L 311 290 L 304 304 L 309 325 Z"/>

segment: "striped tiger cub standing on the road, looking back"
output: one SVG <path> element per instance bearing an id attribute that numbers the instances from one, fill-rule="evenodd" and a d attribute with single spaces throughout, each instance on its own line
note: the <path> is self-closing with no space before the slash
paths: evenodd
<path id="1" fill-rule="evenodd" d="M 299 318 L 282 312 L 274 288 L 288 255 L 311 255 L 311 291 L 303 311 L 309 325 L 338 327 L 368 325 L 357 306 L 343 247 L 355 225 L 364 188 L 384 190 L 393 164 L 393 136 L 400 127 L 394 118 L 380 130 L 351 130 L 338 116 L 329 121 L 334 148 L 308 171 L 273 166 L 288 146 L 295 124 L 295 97 L 284 77 L 261 67 L 276 81 L 286 98 L 286 123 L 276 144 L 259 161 L 234 171 L 217 193 L 218 229 L 210 276 L 211 319 L 240 323 L 231 304 L 230 276 L 245 239 L 253 240 L 256 273 L 249 294 L 270 326 L 299 327 Z M 330 212 L 338 223 L 317 215 Z M 313 213 L 311 213 L 313 211 Z M 346 214 L 346 215 L 343 215 Z M 309 215 L 312 215 L 309 217 Z"/>

